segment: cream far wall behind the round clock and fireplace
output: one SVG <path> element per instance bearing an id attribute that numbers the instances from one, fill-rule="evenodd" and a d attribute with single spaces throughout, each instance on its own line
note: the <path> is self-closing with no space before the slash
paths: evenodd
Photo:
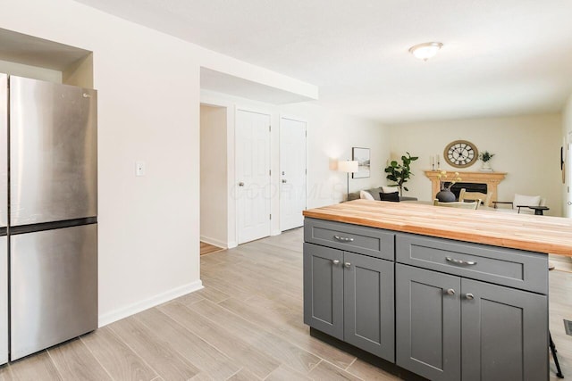
<path id="1" fill-rule="evenodd" d="M 542 195 L 551 208 L 547 214 L 559 216 L 561 126 L 559 114 L 420 122 L 391 126 L 390 145 L 393 155 L 408 151 L 419 156 L 414 165 L 415 177 L 408 183 L 408 195 L 430 200 L 431 181 L 424 174 L 424 170 L 430 169 L 430 156 L 442 157 L 446 145 L 463 139 L 474 143 L 479 151 L 495 153 L 492 168 L 508 173 L 499 185 L 499 201 L 511 201 L 515 193 Z M 444 160 L 441 165 L 443 170 L 458 170 Z M 463 170 L 480 167 L 481 162 L 477 161 Z"/>

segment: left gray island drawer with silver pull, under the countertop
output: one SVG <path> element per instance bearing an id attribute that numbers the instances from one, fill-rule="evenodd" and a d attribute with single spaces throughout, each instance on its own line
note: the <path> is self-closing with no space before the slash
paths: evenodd
<path id="1" fill-rule="evenodd" d="M 305 219 L 304 241 L 393 261 L 395 234 L 379 229 Z"/>

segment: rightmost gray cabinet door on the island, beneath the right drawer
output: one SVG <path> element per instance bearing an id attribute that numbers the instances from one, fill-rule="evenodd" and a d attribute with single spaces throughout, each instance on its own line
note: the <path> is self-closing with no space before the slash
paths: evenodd
<path id="1" fill-rule="evenodd" d="M 461 314 L 463 381 L 548 379 L 545 295 L 462 279 Z"/>

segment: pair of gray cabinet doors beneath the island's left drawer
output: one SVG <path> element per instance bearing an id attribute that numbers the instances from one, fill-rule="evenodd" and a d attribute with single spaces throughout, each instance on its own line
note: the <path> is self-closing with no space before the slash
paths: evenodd
<path id="1" fill-rule="evenodd" d="M 393 262 L 304 244 L 304 322 L 394 360 Z"/>

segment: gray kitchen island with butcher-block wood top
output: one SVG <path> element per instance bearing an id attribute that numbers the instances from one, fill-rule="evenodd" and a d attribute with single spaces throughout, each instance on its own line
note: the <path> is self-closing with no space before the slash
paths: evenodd
<path id="1" fill-rule="evenodd" d="M 572 255 L 572 219 L 366 200 L 304 215 L 313 335 L 405 377 L 548 379 L 546 254 Z"/>

